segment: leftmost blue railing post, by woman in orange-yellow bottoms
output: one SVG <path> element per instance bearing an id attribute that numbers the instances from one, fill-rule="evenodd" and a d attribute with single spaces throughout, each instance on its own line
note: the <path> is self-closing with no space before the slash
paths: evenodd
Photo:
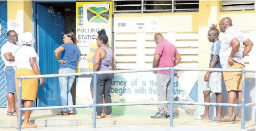
<path id="1" fill-rule="evenodd" d="M 21 101 L 22 101 L 22 79 L 19 78 L 19 97 L 18 97 L 18 131 L 21 131 L 22 113 L 21 113 Z"/>

